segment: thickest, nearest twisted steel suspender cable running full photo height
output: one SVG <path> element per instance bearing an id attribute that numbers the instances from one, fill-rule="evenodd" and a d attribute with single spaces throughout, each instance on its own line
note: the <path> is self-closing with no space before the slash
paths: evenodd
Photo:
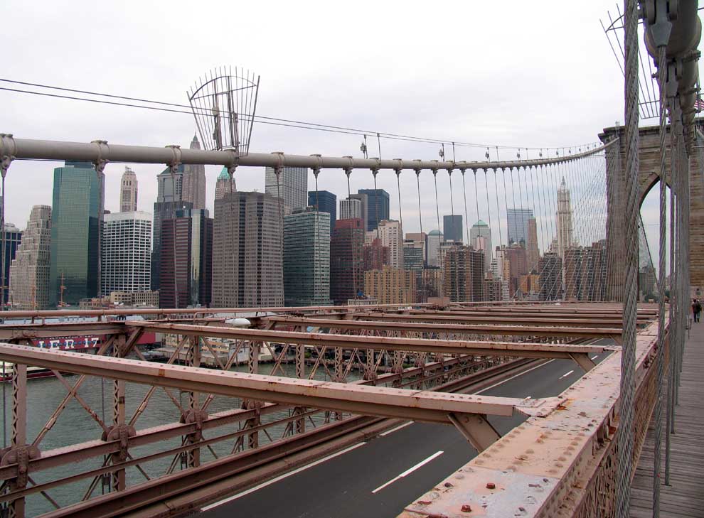
<path id="1" fill-rule="evenodd" d="M 626 286 L 623 306 L 620 423 L 618 431 L 617 518 L 628 518 L 633 473 L 634 371 L 636 363 L 636 311 L 638 303 L 638 1 L 624 0 L 626 72 Z"/>

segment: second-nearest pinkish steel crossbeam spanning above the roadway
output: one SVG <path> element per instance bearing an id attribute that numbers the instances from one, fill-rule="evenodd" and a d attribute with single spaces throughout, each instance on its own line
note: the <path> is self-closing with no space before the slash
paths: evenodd
<path id="1" fill-rule="evenodd" d="M 337 327 L 337 320 L 330 325 Z M 590 354 L 599 354 L 614 347 L 603 345 L 545 344 L 530 342 L 481 342 L 469 340 L 431 340 L 427 338 L 396 338 L 363 335 L 335 335 L 328 333 L 300 333 L 297 331 L 277 331 L 215 327 L 213 325 L 188 325 L 152 323 L 144 321 L 127 322 L 126 325 L 156 333 L 177 335 L 208 336 L 212 338 L 235 338 L 240 340 L 264 340 L 269 342 L 293 343 L 344 347 L 346 349 L 389 350 L 406 352 L 434 352 L 450 355 L 518 356 L 526 358 L 562 358 L 577 361 L 580 366 L 589 365 Z M 579 358 L 579 360 L 576 360 Z M 592 363 L 585 371 L 590 370 Z"/>

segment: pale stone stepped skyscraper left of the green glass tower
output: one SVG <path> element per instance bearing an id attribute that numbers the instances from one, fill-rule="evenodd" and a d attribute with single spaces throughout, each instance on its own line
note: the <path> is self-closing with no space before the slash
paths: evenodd
<path id="1" fill-rule="evenodd" d="M 34 205 L 10 265 L 9 301 L 15 309 L 49 306 L 51 207 Z"/>

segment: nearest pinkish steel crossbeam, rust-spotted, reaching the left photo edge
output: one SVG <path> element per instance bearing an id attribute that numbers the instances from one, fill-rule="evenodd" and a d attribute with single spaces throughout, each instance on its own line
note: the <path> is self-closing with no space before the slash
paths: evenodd
<path id="1" fill-rule="evenodd" d="M 193 392 L 432 423 L 450 423 L 447 414 L 453 413 L 549 414 L 560 403 L 555 398 L 471 396 L 215 371 L 3 343 L 0 343 L 0 360 Z"/>

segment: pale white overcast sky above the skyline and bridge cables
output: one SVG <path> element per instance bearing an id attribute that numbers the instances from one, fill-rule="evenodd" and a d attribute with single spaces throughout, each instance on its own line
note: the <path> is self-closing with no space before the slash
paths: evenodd
<path id="1" fill-rule="evenodd" d="M 5 0 L 0 40 L 11 51 L 0 77 L 184 103 L 199 75 L 237 65 L 261 76 L 257 114 L 491 146 L 575 146 L 597 141 L 604 127 L 624 119 L 623 77 L 599 24 L 607 9 L 614 13 L 614 1 Z M 195 131 L 188 114 L 6 91 L 0 91 L 0 103 L 0 131 L 23 138 L 188 146 Z M 360 141 L 355 135 L 255 124 L 250 151 L 361 156 Z M 381 141 L 383 158 L 432 159 L 437 153 L 435 144 Z M 515 158 L 516 149 L 500 153 Z M 456 154 L 457 160 L 479 160 L 484 149 L 457 147 Z M 370 156 L 377 155 L 373 139 Z M 51 204 L 56 165 L 13 164 L 7 221 L 23 228 L 31 205 Z M 133 166 L 139 210 L 152 212 L 155 176 L 163 168 Z M 123 164 L 107 166 L 109 210 L 119 209 L 122 171 Z M 206 168 L 211 209 L 218 173 Z M 584 176 L 574 171 L 572 178 L 579 182 Z M 455 212 L 463 213 L 459 178 L 453 176 Z M 379 180 L 390 192 L 392 217 L 398 217 L 395 176 L 380 173 Z M 432 175 L 421 180 L 428 231 L 437 227 L 430 225 Z M 447 173 L 438 180 L 442 219 L 450 212 Z M 263 170 L 240 168 L 237 182 L 240 190 L 264 190 Z M 324 171 L 319 184 L 338 198 L 346 195 L 341 171 Z M 370 173 L 353 173 L 353 191 L 369 187 Z M 467 188 L 473 222 L 474 195 Z M 587 183 L 572 188 L 595 195 L 598 185 L 591 191 Z M 496 195 L 493 189 L 490 185 L 489 195 Z M 401 190 L 405 231 L 417 231 L 415 175 L 402 175 Z M 480 190 L 479 199 L 486 194 Z M 593 212 L 600 205 L 589 206 Z M 649 207 L 646 225 L 657 222 Z M 480 206 L 486 220 L 490 213 L 482 216 L 482 210 L 486 203 Z M 548 217 L 550 211 L 544 212 Z M 497 219 L 494 212 L 496 237 Z M 582 219 L 592 226 L 595 221 L 591 215 Z M 505 241 L 505 221 L 502 225 Z M 656 225 L 647 228 L 656 235 Z M 597 233 L 575 232 L 585 238 Z"/>

